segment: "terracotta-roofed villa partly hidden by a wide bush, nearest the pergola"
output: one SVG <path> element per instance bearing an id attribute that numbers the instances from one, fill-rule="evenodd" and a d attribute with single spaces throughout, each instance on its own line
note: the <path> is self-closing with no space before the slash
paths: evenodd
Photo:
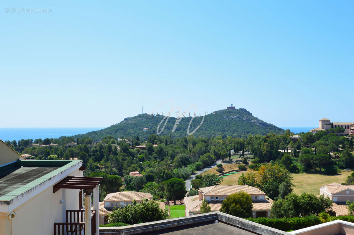
<path id="1" fill-rule="evenodd" d="M 122 208 L 127 205 L 133 205 L 135 200 L 137 203 L 141 203 L 143 200 L 153 200 L 153 196 L 150 193 L 141 193 L 133 191 L 122 191 L 116 193 L 109 193 L 103 199 L 103 202 L 99 202 L 99 224 L 107 224 L 108 215 L 112 213 L 115 207 Z M 160 208 L 165 210 L 165 203 L 158 201 Z"/>

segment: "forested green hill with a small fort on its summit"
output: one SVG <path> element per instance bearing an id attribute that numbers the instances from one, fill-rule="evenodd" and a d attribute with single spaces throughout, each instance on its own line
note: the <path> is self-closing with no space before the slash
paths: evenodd
<path id="1" fill-rule="evenodd" d="M 192 114 L 191 114 L 192 115 Z M 169 135 L 171 137 L 187 136 L 187 128 L 190 118 L 183 117 L 177 128 L 172 132 L 176 118 L 169 117 L 166 126 L 160 135 Z M 150 114 L 139 114 L 135 117 L 125 118 L 122 122 L 98 131 L 91 131 L 82 135 L 75 135 L 74 138 L 82 138 L 89 136 L 93 140 L 101 140 L 102 137 L 112 135 L 114 137 L 135 137 L 139 136 L 141 140 L 147 140 L 150 134 L 156 134 L 156 128 L 164 116 L 150 116 Z M 203 117 L 195 117 L 190 125 L 189 133 L 191 133 L 202 121 Z M 166 118 L 167 119 L 167 118 Z M 166 121 L 165 119 L 165 121 Z M 165 122 L 164 121 L 164 122 Z M 164 126 L 164 122 L 160 125 L 159 131 Z M 144 128 L 148 130 L 143 131 Z M 267 133 L 284 133 L 284 130 L 273 124 L 263 122 L 261 119 L 252 116 L 252 113 L 244 108 L 236 110 L 219 110 L 205 115 L 204 122 L 193 135 L 196 137 L 211 136 L 233 136 L 241 137 L 248 134 L 267 134 Z"/>

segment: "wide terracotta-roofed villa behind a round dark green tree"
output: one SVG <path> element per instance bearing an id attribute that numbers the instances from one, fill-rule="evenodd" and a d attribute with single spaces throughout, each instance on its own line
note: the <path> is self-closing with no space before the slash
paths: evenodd
<path id="1" fill-rule="evenodd" d="M 200 205 L 203 199 L 208 202 L 211 211 L 219 211 L 223 200 L 230 194 L 239 193 L 241 191 L 251 196 L 253 218 L 270 216 L 270 207 L 273 204 L 273 200 L 268 198 L 265 193 L 258 188 L 248 185 L 215 185 L 200 188 L 199 195 L 184 198 L 185 216 L 200 214 Z"/>

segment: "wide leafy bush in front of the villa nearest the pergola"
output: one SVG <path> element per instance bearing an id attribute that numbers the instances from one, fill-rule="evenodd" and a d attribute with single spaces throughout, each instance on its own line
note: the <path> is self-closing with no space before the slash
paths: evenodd
<path id="1" fill-rule="evenodd" d="M 134 205 L 135 204 L 135 205 Z M 140 204 L 116 208 L 108 216 L 109 223 L 139 224 L 170 218 L 168 211 L 162 210 L 155 201 L 143 200 Z"/>

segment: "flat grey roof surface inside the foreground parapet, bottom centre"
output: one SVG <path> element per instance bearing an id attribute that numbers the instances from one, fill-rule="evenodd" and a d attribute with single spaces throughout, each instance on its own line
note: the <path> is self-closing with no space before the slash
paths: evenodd
<path id="1" fill-rule="evenodd" d="M 143 234 L 143 233 L 141 233 Z M 230 235 L 230 234 L 238 234 L 238 235 L 253 235 L 251 231 L 247 231 L 233 225 L 225 224 L 225 223 L 214 223 L 213 221 L 209 221 L 206 223 L 193 224 L 193 225 L 185 225 L 181 227 L 177 227 L 175 229 L 169 229 L 168 231 L 157 231 L 150 232 L 149 234 L 158 235 L 158 234 L 168 234 L 168 235 Z"/>

